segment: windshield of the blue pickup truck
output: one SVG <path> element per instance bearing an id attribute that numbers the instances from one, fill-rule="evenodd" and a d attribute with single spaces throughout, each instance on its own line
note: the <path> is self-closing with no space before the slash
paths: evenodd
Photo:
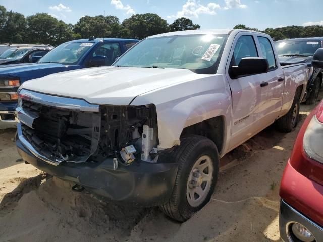
<path id="1" fill-rule="evenodd" d="M 93 43 L 64 43 L 48 52 L 39 63 L 62 63 L 75 65 L 87 53 Z"/>

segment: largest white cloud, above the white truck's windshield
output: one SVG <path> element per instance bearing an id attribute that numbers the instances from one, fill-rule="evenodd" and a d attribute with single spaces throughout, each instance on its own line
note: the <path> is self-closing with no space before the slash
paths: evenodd
<path id="1" fill-rule="evenodd" d="M 167 18 L 181 18 L 181 17 L 196 17 L 200 14 L 210 14 L 215 15 L 216 9 L 221 9 L 219 4 L 216 3 L 208 3 L 207 5 L 202 5 L 200 3 L 196 3 L 195 0 L 187 0 L 187 2 L 183 5 L 182 10 L 178 11 L 176 15 L 167 16 Z"/>

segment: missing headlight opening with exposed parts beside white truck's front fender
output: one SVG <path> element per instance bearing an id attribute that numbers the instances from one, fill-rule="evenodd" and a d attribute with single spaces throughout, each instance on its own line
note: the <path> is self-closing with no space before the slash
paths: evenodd
<path id="1" fill-rule="evenodd" d="M 154 105 L 101 106 L 100 156 L 116 156 L 129 165 L 135 160 L 156 162 L 157 114 Z"/>

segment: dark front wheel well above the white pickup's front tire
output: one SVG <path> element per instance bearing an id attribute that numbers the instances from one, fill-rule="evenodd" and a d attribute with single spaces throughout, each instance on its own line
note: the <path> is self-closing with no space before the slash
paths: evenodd
<path id="1" fill-rule="evenodd" d="M 224 117 L 213 117 L 185 127 L 181 137 L 186 135 L 201 135 L 207 137 L 216 144 L 218 152 L 221 153 L 224 138 Z"/>

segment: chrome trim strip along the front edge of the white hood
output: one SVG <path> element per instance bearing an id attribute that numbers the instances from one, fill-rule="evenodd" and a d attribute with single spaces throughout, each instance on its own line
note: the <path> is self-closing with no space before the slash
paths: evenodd
<path id="1" fill-rule="evenodd" d="M 72 111 L 84 111 L 84 112 L 99 112 L 99 105 L 89 104 L 81 99 L 74 99 L 68 97 L 52 96 L 42 94 L 39 92 L 29 91 L 27 89 L 21 89 L 19 95 L 25 95 L 31 98 L 30 101 L 36 102 L 45 106 L 66 108 Z"/>

